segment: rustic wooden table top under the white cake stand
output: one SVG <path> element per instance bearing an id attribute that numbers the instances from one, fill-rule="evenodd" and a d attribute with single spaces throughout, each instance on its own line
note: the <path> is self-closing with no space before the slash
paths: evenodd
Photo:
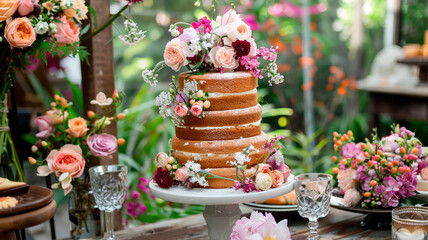
<path id="1" fill-rule="evenodd" d="M 246 207 L 245 207 L 246 208 Z M 251 210 L 246 208 L 246 215 Z M 287 218 L 293 240 L 306 239 L 309 229 L 307 219 L 302 219 L 297 212 L 276 214 L 276 218 Z M 327 217 L 320 219 L 318 233 L 321 239 L 391 239 L 391 230 L 366 230 L 360 227 L 364 214 L 330 209 Z M 280 219 L 277 219 L 279 221 Z M 142 225 L 116 233 L 116 239 L 176 239 L 176 240 L 209 240 L 208 229 L 202 215 L 168 220 L 154 224 Z"/>

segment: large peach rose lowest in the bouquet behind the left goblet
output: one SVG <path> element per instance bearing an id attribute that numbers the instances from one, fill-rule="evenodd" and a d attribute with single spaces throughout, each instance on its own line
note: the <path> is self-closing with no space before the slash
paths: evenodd
<path id="1" fill-rule="evenodd" d="M 72 178 L 80 177 L 85 169 L 82 149 L 77 145 L 66 144 L 59 151 L 52 150 L 46 158 L 48 167 L 57 177 L 69 173 Z"/>

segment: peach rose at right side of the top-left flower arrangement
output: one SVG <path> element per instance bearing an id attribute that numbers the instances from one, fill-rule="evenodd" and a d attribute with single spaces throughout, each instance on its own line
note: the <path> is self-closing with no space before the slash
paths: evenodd
<path id="1" fill-rule="evenodd" d="M 62 23 L 55 23 L 58 29 L 52 37 L 56 38 L 60 45 L 73 44 L 79 41 L 80 29 L 73 19 L 62 16 L 58 19 Z"/>

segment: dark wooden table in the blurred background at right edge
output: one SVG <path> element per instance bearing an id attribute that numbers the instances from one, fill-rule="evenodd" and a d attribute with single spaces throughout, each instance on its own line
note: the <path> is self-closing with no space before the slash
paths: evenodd
<path id="1" fill-rule="evenodd" d="M 428 85 L 409 88 L 359 84 L 358 89 L 369 94 L 369 130 L 380 126 L 380 114 L 395 121 L 428 121 Z"/>

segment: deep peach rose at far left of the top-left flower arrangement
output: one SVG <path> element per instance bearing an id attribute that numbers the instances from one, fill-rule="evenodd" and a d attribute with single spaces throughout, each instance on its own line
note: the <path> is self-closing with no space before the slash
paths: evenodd
<path id="1" fill-rule="evenodd" d="M 6 25 L 4 37 L 11 47 L 25 48 L 36 40 L 36 31 L 28 18 L 15 18 Z"/>

